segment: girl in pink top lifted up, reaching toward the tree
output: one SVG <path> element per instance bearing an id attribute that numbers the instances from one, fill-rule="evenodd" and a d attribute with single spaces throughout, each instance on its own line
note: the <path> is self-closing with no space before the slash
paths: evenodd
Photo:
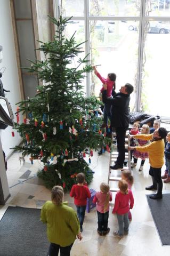
<path id="1" fill-rule="evenodd" d="M 102 77 L 95 66 L 93 66 L 94 74 L 99 77 L 100 81 L 103 84 L 107 84 L 107 98 L 112 98 L 112 90 L 115 91 L 116 89 L 116 74 L 115 73 L 109 73 L 107 78 Z M 104 88 L 100 90 L 102 92 Z M 104 103 L 104 122 L 103 127 L 106 127 L 108 124 L 108 117 L 111 119 L 111 111 L 110 111 L 111 105 L 109 103 Z"/>

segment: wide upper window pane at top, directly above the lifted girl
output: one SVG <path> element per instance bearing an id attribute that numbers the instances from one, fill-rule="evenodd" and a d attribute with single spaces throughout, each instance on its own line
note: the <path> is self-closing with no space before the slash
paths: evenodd
<path id="1" fill-rule="evenodd" d="M 90 16 L 139 16 L 140 0 L 89 0 Z"/>

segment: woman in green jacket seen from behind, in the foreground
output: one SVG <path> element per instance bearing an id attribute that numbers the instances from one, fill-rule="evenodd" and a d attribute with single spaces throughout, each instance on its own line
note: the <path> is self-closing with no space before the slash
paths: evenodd
<path id="1" fill-rule="evenodd" d="M 47 223 L 47 238 L 50 241 L 49 256 L 69 256 L 76 239 L 82 239 L 76 212 L 63 202 L 64 191 L 54 186 L 51 201 L 47 201 L 41 211 L 41 220 Z"/>

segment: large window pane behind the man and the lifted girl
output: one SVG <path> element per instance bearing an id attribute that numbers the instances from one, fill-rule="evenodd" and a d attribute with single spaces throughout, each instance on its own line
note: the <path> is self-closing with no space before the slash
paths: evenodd
<path id="1" fill-rule="evenodd" d="M 139 23 L 135 21 L 91 21 L 92 65 L 101 65 L 98 67 L 98 71 L 105 78 L 108 73 L 116 73 L 116 92 L 125 83 L 135 85 L 139 40 L 138 25 Z M 92 73 L 91 94 L 98 96 L 101 87 L 102 83 L 99 78 Z M 132 94 L 132 105 L 135 101 L 134 95 L 135 93 Z"/>

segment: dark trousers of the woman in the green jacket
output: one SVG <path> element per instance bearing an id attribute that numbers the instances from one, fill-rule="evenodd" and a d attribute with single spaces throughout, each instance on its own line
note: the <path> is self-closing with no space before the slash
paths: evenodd
<path id="1" fill-rule="evenodd" d="M 70 251 L 73 243 L 69 246 L 62 247 L 59 244 L 50 244 L 49 256 L 58 256 L 60 250 L 60 256 L 70 256 Z"/>

